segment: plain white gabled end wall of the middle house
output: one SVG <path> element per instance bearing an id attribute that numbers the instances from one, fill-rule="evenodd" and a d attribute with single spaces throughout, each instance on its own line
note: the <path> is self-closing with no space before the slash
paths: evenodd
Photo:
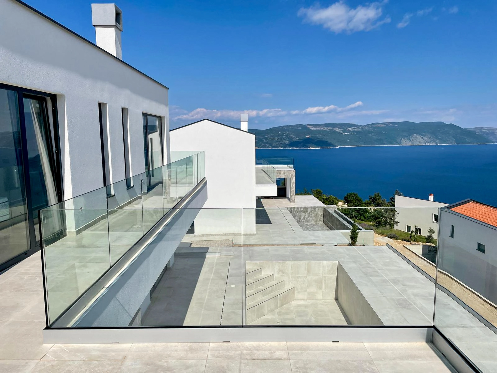
<path id="1" fill-rule="evenodd" d="M 205 151 L 207 202 L 195 219 L 195 234 L 241 233 L 241 209 L 255 208 L 255 136 L 210 120 L 169 132 L 171 151 Z M 219 222 L 224 208 L 223 224 Z M 251 215 L 250 215 L 251 214 Z M 244 211 L 244 233 L 255 233 L 255 211 Z M 253 215 L 252 219 L 248 216 Z"/>

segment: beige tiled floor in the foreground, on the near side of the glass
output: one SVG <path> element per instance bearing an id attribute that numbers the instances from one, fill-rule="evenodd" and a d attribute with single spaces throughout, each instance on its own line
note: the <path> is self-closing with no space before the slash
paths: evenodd
<path id="1" fill-rule="evenodd" d="M 0 274 L 2 373 L 455 372 L 426 343 L 46 345 L 40 255 Z"/>

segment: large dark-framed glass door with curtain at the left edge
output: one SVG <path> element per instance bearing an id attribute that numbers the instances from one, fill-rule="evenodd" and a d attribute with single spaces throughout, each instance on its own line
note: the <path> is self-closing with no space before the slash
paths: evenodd
<path id="1" fill-rule="evenodd" d="M 0 85 L 0 270 L 39 248 L 38 210 L 62 200 L 55 114 L 55 96 Z"/>

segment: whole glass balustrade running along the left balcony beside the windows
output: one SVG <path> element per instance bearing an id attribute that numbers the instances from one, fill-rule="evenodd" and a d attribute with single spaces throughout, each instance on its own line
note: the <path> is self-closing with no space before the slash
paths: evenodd
<path id="1" fill-rule="evenodd" d="M 40 210 L 52 324 L 204 179 L 203 152 Z"/>

